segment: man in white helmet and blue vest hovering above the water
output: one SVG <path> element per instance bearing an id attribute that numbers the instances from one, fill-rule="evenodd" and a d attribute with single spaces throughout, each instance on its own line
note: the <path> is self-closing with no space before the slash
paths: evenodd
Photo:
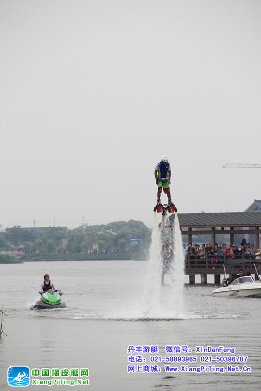
<path id="1" fill-rule="evenodd" d="M 171 200 L 170 189 L 169 189 L 171 168 L 170 168 L 170 164 L 168 162 L 168 157 L 166 155 L 163 155 L 161 158 L 161 161 L 156 165 L 154 175 L 155 175 L 155 179 L 156 179 L 156 184 L 158 185 L 158 194 L 157 194 L 158 198 L 157 198 L 157 205 L 156 206 L 162 205 L 162 203 L 161 203 L 162 188 L 163 188 L 164 193 L 167 195 L 168 205 L 170 205 L 170 206 L 174 205 Z"/>

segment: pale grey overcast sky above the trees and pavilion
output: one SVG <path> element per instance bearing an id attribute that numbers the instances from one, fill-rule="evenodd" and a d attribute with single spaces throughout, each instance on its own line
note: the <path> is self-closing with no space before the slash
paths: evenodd
<path id="1" fill-rule="evenodd" d="M 261 199 L 261 2 L 1 0 L 0 225 L 142 220 Z M 166 201 L 166 195 L 162 196 Z"/>

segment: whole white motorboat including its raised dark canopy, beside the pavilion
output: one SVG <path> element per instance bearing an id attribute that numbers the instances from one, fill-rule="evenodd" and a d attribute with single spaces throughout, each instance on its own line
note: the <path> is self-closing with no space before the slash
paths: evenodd
<path id="1" fill-rule="evenodd" d="M 261 297 L 261 275 L 258 273 L 256 264 L 260 262 L 249 261 L 249 260 L 233 260 L 227 261 L 226 266 L 236 266 L 240 264 L 251 263 L 254 264 L 256 269 L 256 274 L 259 277 L 259 281 L 254 281 L 252 276 L 241 276 L 238 277 L 228 284 L 228 279 L 223 279 L 223 285 L 220 288 L 215 289 L 212 294 L 218 297 Z M 226 269 L 224 266 L 225 275 Z M 234 270 L 234 268 L 233 268 Z M 233 274 L 233 271 L 231 272 Z"/>

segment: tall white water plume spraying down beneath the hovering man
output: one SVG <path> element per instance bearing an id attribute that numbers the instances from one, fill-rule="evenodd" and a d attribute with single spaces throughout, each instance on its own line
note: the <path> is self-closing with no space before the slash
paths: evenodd
<path id="1" fill-rule="evenodd" d="M 163 265 L 166 268 L 164 274 Z M 157 214 L 154 213 L 149 267 L 143 292 L 144 317 L 150 319 L 183 318 L 184 281 L 184 255 L 178 216 L 174 215 L 171 225 L 168 214 L 166 214 L 159 229 Z"/>

